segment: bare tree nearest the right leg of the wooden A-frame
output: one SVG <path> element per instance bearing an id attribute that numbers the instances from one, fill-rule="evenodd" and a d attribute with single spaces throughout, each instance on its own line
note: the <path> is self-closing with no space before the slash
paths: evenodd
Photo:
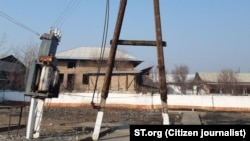
<path id="1" fill-rule="evenodd" d="M 176 65 L 172 70 L 174 82 L 180 86 L 181 93 L 186 94 L 186 84 L 187 75 L 189 73 L 189 68 L 187 65 Z"/>

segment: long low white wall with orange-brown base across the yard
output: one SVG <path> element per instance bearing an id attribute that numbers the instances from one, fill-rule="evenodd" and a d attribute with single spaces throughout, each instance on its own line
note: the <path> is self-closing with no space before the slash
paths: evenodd
<path id="1" fill-rule="evenodd" d="M 46 99 L 45 105 L 79 107 L 89 106 L 93 93 L 61 93 L 58 98 Z M 100 101 L 100 93 L 95 94 L 94 103 Z M 24 92 L 0 92 L 2 101 L 26 101 L 30 98 Z M 250 96 L 228 95 L 168 95 L 169 109 L 214 110 L 214 111 L 249 111 Z M 116 94 L 110 93 L 106 107 L 154 109 L 161 107 L 159 94 Z"/>

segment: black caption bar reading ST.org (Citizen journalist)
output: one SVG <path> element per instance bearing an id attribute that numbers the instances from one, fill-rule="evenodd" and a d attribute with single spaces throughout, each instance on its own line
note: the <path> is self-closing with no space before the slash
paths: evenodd
<path id="1" fill-rule="evenodd" d="M 130 141 L 250 140 L 250 125 L 130 125 Z"/>

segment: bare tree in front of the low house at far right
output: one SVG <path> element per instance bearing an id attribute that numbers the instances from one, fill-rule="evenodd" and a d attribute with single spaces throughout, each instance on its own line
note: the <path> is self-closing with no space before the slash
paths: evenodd
<path id="1" fill-rule="evenodd" d="M 220 91 L 223 93 L 237 93 L 237 77 L 232 69 L 222 69 L 218 75 Z"/>

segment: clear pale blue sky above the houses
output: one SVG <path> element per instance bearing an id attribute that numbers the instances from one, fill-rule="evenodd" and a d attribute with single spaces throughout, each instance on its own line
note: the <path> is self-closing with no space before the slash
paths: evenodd
<path id="1" fill-rule="evenodd" d="M 62 32 L 57 52 L 86 46 L 101 47 L 106 0 L 1 0 L 0 11 L 33 31 Z M 230 68 L 250 73 L 249 0 L 159 0 L 165 68 L 187 65 L 189 73 Z M 109 0 L 106 47 L 113 37 L 120 1 Z M 24 48 L 39 37 L 0 16 L 1 46 Z M 128 0 L 120 39 L 155 40 L 153 0 Z M 118 46 L 143 60 L 138 68 L 157 66 L 156 47 Z"/>

